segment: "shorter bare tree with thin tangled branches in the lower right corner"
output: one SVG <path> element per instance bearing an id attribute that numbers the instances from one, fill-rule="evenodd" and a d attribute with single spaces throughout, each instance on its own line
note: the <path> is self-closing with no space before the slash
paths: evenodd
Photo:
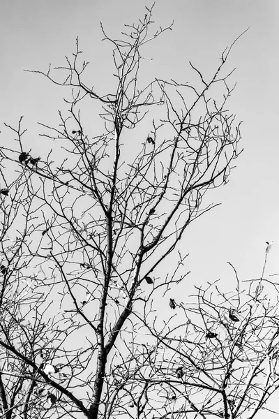
<path id="1" fill-rule="evenodd" d="M 269 297 L 263 282 L 241 284 L 236 275 L 224 293 L 216 281 L 175 304 L 179 323 L 172 316 L 163 328 L 146 324 L 156 343 L 137 346 L 130 357 L 137 415 L 228 419 L 271 411 L 266 402 L 279 384 L 279 304 L 278 293 Z M 119 376 L 123 383 L 125 366 Z"/>

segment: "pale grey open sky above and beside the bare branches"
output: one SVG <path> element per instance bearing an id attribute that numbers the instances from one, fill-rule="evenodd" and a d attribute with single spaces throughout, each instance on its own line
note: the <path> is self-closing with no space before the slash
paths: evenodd
<path id="1" fill-rule="evenodd" d="M 63 94 L 39 75 L 24 68 L 47 70 L 50 62 L 63 64 L 79 36 L 84 59 L 91 61 L 92 84 L 102 87 L 111 76 L 110 45 L 101 43 L 99 21 L 117 37 L 123 23 L 144 15 L 149 0 L 13 0 L 1 2 L 0 13 L 0 141 L 12 138 L 3 122 L 16 124 L 24 115 L 32 149 L 40 152 L 37 122 L 56 121 Z M 236 161 L 229 184 L 211 194 L 222 202 L 193 223 L 183 240 L 190 253 L 190 284 L 222 278 L 232 281 L 230 261 L 241 279 L 259 277 L 266 240 L 276 244 L 266 274 L 279 272 L 278 193 L 278 0 L 158 0 L 154 20 L 174 29 L 149 46 L 150 75 L 186 82 L 188 61 L 206 74 L 219 64 L 227 45 L 250 27 L 235 45 L 229 68 L 236 90 L 229 110 L 243 120 L 244 153 Z M 187 291 L 186 291 L 187 294 Z"/>

